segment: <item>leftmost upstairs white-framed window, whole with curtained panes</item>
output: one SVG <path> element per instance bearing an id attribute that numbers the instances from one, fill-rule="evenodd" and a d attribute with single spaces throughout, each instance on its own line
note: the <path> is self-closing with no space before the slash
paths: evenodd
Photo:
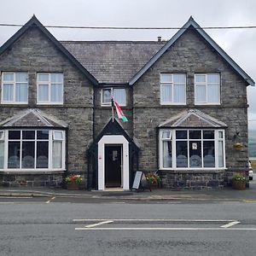
<path id="1" fill-rule="evenodd" d="M 27 104 L 27 81 L 26 72 L 3 72 L 1 102 L 4 104 Z"/>

